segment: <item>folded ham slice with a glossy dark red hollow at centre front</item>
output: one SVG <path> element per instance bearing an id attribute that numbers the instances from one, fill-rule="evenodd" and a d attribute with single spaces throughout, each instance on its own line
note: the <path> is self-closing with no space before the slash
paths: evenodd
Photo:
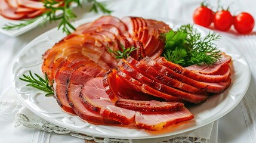
<path id="1" fill-rule="evenodd" d="M 116 70 L 113 69 L 103 79 L 103 86 L 107 95 L 113 103 L 122 108 L 135 111 L 170 111 L 179 110 L 184 107 L 180 102 L 161 102 L 159 98 L 153 98 L 152 95 L 143 94 L 133 85 L 124 83 L 120 77 L 116 76 Z M 156 101 L 159 100 L 159 101 Z"/>

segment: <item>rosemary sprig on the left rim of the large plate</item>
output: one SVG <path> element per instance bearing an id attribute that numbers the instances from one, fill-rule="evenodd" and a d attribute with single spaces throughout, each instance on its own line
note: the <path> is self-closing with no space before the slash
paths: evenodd
<path id="1" fill-rule="evenodd" d="M 33 77 L 31 71 L 29 71 L 29 75 L 26 76 L 25 74 L 23 74 L 23 78 L 20 77 L 19 79 L 23 80 L 24 82 L 28 82 L 27 86 L 32 86 L 36 89 L 46 92 L 46 97 L 54 95 L 53 86 L 49 85 L 49 79 L 47 77 L 47 74 L 45 74 L 45 79 L 43 79 L 36 73 L 34 74 L 37 77 L 37 79 Z"/>

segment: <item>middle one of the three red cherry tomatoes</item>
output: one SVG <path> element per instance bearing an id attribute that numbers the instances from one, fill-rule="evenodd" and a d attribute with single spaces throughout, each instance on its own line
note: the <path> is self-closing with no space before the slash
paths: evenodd
<path id="1" fill-rule="evenodd" d="M 221 10 L 214 15 L 214 27 L 217 30 L 227 31 L 233 24 L 233 16 L 229 11 Z"/>

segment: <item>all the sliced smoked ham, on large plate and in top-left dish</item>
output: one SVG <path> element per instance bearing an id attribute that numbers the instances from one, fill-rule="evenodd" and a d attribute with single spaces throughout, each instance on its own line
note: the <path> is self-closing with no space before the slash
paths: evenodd
<path id="1" fill-rule="evenodd" d="M 31 12 L 19 7 L 24 1 L 29 0 L 10 1 L 8 8 L 18 7 L 8 9 L 11 14 Z M 33 12 L 38 10 L 40 5 Z M 229 88 L 231 57 L 221 53 L 213 66 L 171 63 L 160 57 L 165 46 L 161 34 L 168 30 L 162 21 L 105 15 L 55 43 L 42 56 L 42 71 L 54 80 L 60 107 L 90 123 L 146 130 L 192 120 L 188 103 L 202 104 Z M 130 57 L 116 59 L 115 52 L 128 48 L 135 49 Z"/>

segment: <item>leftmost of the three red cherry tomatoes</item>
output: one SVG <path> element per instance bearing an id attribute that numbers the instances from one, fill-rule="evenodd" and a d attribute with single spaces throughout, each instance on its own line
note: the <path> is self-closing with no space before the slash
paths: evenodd
<path id="1" fill-rule="evenodd" d="M 193 20 L 196 24 L 209 27 L 212 23 L 214 13 L 208 7 L 202 6 L 195 10 Z"/>

